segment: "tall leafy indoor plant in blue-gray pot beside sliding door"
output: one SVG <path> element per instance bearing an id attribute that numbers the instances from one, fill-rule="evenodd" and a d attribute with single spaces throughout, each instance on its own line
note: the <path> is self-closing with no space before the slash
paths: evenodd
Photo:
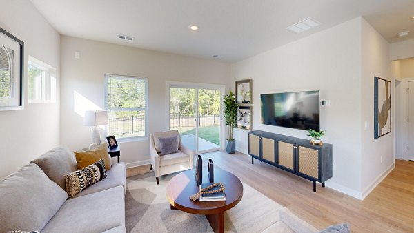
<path id="1" fill-rule="evenodd" d="M 228 139 L 226 152 L 234 154 L 236 151 L 236 141 L 233 139 L 233 128 L 237 125 L 237 107 L 236 96 L 230 91 L 229 94 L 224 96 L 224 119 L 226 119 L 226 125 L 228 126 Z"/>

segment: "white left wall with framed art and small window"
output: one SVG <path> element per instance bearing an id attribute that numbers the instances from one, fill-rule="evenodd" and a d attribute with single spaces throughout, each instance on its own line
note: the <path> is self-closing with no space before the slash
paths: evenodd
<path id="1" fill-rule="evenodd" d="M 0 112 L 0 179 L 59 144 L 59 33 L 30 1 L 0 0 L 0 27 L 25 44 L 24 110 Z M 28 55 L 57 69 L 57 103 L 28 103 Z"/>

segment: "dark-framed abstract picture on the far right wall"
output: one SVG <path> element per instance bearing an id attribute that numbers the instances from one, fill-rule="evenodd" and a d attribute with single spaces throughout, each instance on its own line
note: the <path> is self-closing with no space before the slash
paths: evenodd
<path id="1" fill-rule="evenodd" d="M 391 81 L 374 77 L 374 139 L 391 132 Z"/>

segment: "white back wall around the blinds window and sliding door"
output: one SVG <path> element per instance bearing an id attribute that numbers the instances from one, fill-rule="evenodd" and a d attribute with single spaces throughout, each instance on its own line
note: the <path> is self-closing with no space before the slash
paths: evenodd
<path id="1" fill-rule="evenodd" d="M 81 54 L 75 59 L 75 51 Z M 166 81 L 228 87 L 230 64 L 74 37 L 61 37 L 61 143 L 70 150 L 90 143 L 84 110 L 104 109 L 104 75 L 148 77 L 148 132 L 166 130 Z M 102 135 L 102 140 L 106 139 Z M 149 140 L 120 142 L 128 166 L 150 163 Z"/>

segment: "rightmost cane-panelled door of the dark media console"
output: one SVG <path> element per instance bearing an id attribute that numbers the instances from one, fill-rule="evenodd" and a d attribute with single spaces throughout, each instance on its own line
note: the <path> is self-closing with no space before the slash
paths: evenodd
<path id="1" fill-rule="evenodd" d="M 297 172 L 319 180 L 319 150 L 297 146 Z"/>

